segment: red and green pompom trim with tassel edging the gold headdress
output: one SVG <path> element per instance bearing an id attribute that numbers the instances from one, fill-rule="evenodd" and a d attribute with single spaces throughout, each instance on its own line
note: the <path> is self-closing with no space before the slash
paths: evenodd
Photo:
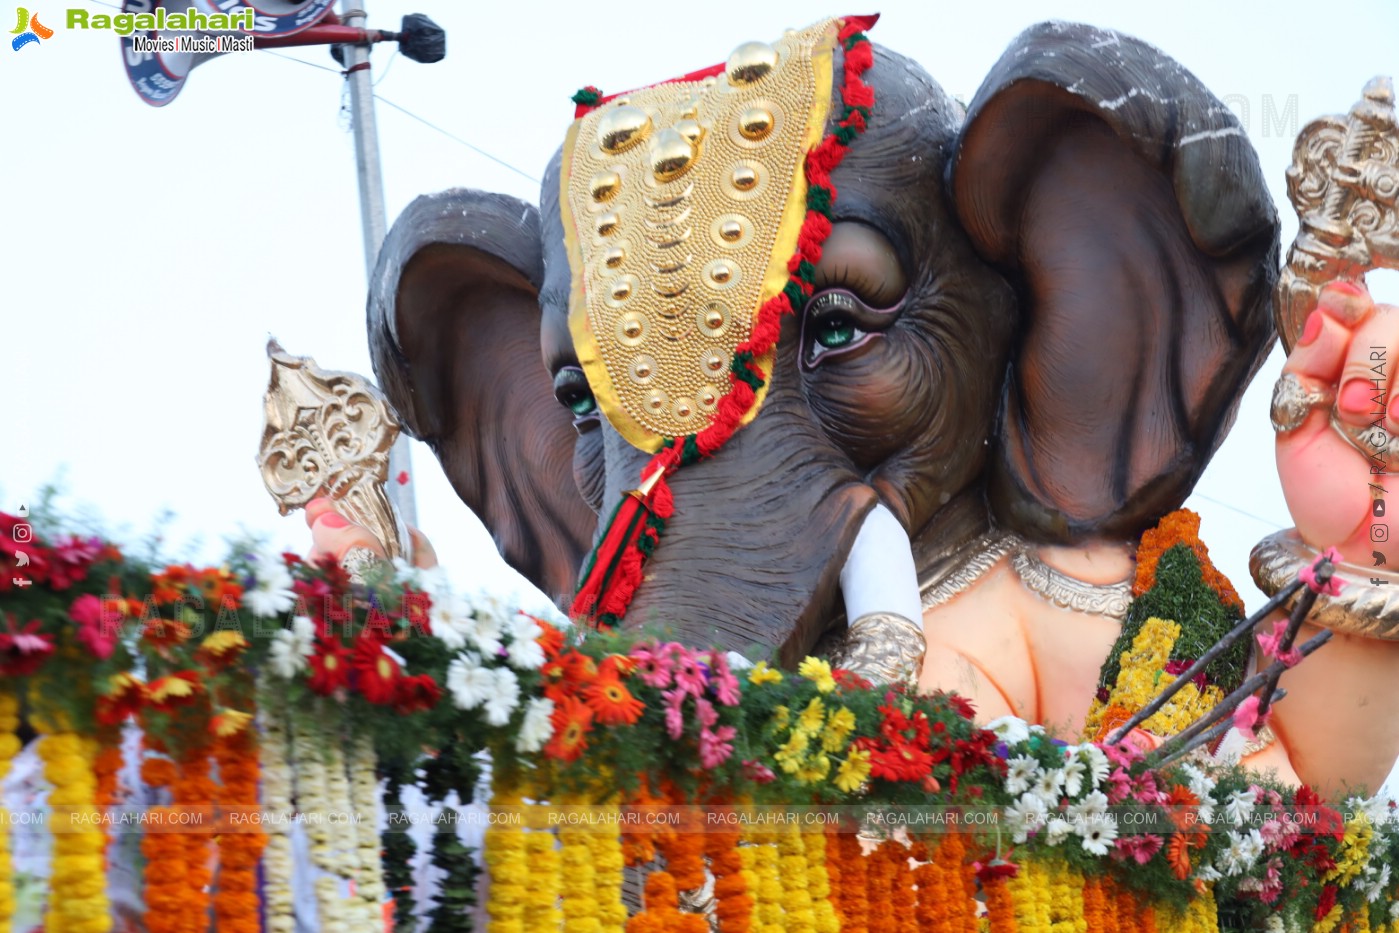
<path id="1" fill-rule="evenodd" d="M 709 424 L 695 434 L 666 441 L 642 467 L 641 487 L 625 494 L 613 509 L 583 568 L 569 608 L 574 618 L 604 628 L 621 622 L 641 586 L 642 564 L 660 544 L 666 522 L 674 515 L 674 498 L 666 478 L 684 466 L 712 457 L 734 435 L 757 401 L 758 390 L 768 380 L 768 373 L 762 372 L 757 361 L 776 347 L 782 318 L 800 312 L 814 291 L 816 264 L 821 262 L 821 245 L 831 234 L 831 210 L 837 194 L 831 172 L 845 158 L 855 137 L 865 131 L 874 106 L 874 91 L 865 84 L 862 76 L 874 63 L 874 52 L 865 31 L 877 18 L 849 17 L 841 21 L 838 39 L 845 50 L 841 109 L 835 129 L 806 154 L 806 218 L 797 234 L 796 252 L 788 260 L 790 277 L 786 285 L 764 302 L 754 319 L 753 333 L 734 350 L 729 362 L 729 392 L 719 400 Z M 723 66 L 705 69 L 679 80 L 698 80 L 722 70 Z M 611 97 L 602 97 L 593 87 L 574 95 L 578 116 L 610 99 Z"/>

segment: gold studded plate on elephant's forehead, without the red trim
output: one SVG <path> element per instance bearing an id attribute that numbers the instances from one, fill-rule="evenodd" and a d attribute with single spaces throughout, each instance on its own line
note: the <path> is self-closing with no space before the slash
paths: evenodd
<path id="1" fill-rule="evenodd" d="M 837 28 L 747 42 L 716 76 L 628 92 L 569 129 L 574 347 L 603 415 L 642 450 L 708 424 L 729 359 L 788 283 Z M 771 372 L 771 354 L 758 362 Z"/>

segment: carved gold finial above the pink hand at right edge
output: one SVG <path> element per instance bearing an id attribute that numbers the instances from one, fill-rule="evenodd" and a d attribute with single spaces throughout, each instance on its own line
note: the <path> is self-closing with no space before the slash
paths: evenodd
<path id="1" fill-rule="evenodd" d="M 1291 352 L 1322 285 L 1371 269 L 1399 269 L 1392 78 L 1371 78 L 1347 116 L 1323 116 L 1302 129 L 1287 169 L 1287 196 L 1300 227 L 1277 281 L 1274 323 Z"/>

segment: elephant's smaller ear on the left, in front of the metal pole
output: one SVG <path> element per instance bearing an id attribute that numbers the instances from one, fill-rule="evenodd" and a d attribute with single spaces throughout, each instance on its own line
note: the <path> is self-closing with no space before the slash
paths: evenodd
<path id="1" fill-rule="evenodd" d="M 533 206 L 462 189 L 418 197 L 379 252 L 369 351 L 404 428 L 432 446 L 501 555 L 561 597 L 596 516 L 540 358 L 541 278 Z"/>

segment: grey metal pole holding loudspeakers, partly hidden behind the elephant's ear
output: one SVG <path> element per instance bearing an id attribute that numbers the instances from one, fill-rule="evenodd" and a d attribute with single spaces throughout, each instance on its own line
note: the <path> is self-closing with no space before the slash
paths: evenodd
<path id="1" fill-rule="evenodd" d="M 348 8 L 341 4 L 340 18 L 347 27 L 365 28 L 362 3 Z M 389 232 L 383 208 L 383 171 L 379 166 L 379 127 L 374 119 L 374 81 L 369 77 L 369 46 L 347 45 L 346 80 L 350 81 L 350 120 L 354 129 L 354 161 L 360 173 L 360 218 L 364 225 L 365 278 L 374 278 L 379 248 Z M 407 483 L 399 483 L 407 477 Z M 413 459 L 409 438 L 399 435 L 389 452 L 389 501 L 410 527 L 418 526 L 417 495 L 413 483 Z M 403 543 L 404 547 L 409 541 Z"/>

